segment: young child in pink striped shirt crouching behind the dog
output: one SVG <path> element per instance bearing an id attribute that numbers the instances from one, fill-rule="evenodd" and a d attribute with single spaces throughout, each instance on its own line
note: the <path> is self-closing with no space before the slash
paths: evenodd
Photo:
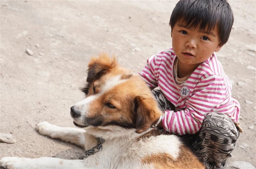
<path id="1" fill-rule="evenodd" d="M 240 105 L 214 53 L 233 20 L 226 0 L 180 0 L 169 23 L 172 48 L 151 56 L 140 73 L 164 112 L 158 127 L 192 139 L 206 168 L 224 167 L 242 132 Z"/>

